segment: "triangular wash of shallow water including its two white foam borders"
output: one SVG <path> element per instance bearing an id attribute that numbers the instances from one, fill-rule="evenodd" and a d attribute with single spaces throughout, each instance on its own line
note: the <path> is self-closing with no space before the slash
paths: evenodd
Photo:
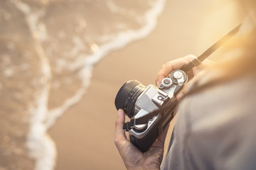
<path id="1" fill-rule="evenodd" d="M 149 35 L 165 1 L 11 1 L 23 13 L 40 63 L 42 86 L 28 109 L 27 137 L 37 170 L 54 168 L 47 131 L 86 93 L 95 64 Z"/>

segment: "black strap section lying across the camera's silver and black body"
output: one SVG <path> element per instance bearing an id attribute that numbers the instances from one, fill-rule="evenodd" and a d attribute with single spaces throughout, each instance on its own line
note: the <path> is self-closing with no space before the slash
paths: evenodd
<path id="1" fill-rule="evenodd" d="M 127 123 L 124 123 L 123 129 L 128 131 L 134 128 L 134 125 L 142 125 L 149 122 L 151 118 L 153 118 L 156 115 L 159 115 L 159 113 L 165 113 L 166 111 L 173 111 L 176 108 L 177 101 L 176 98 L 171 98 L 169 103 L 166 103 L 166 105 L 163 108 L 157 109 L 156 111 L 152 111 L 151 113 L 148 113 L 140 118 L 131 118 L 131 120 Z"/>

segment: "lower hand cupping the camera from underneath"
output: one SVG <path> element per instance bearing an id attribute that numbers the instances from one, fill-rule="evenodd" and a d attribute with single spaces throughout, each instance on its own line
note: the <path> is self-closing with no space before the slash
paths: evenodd
<path id="1" fill-rule="evenodd" d="M 154 144 L 147 152 L 142 153 L 127 139 L 123 128 L 124 111 L 118 110 L 117 120 L 115 122 L 114 144 L 117 146 L 127 169 L 160 169 L 161 161 L 164 155 L 164 140 L 166 138 L 169 126 L 156 139 Z"/>

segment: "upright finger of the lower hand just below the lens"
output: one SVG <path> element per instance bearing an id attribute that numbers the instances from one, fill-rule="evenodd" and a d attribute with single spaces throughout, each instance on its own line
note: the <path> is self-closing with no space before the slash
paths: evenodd
<path id="1" fill-rule="evenodd" d="M 118 110 L 117 120 L 115 122 L 115 130 L 114 130 L 114 143 L 118 146 L 120 142 L 127 140 L 123 128 L 124 125 L 124 111 L 122 109 Z"/>

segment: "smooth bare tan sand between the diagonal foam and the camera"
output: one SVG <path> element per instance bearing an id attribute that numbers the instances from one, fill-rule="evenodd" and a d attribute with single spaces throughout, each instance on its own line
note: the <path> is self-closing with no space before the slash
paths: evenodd
<path id="1" fill-rule="evenodd" d="M 219 7 L 213 1 L 167 1 L 147 38 L 101 60 L 85 96 L 50 129 L 58 152 L 55 169 L 124 169 L 113 142 L 117 91 L 129 79 L 154 84 L 162 64 L 188 54 L 200 55 L 240 22 L 232 17 L 227 22 L 230 13 L 218 11 Z M 170 135 L 171 128 L 166 147 Z"/>

